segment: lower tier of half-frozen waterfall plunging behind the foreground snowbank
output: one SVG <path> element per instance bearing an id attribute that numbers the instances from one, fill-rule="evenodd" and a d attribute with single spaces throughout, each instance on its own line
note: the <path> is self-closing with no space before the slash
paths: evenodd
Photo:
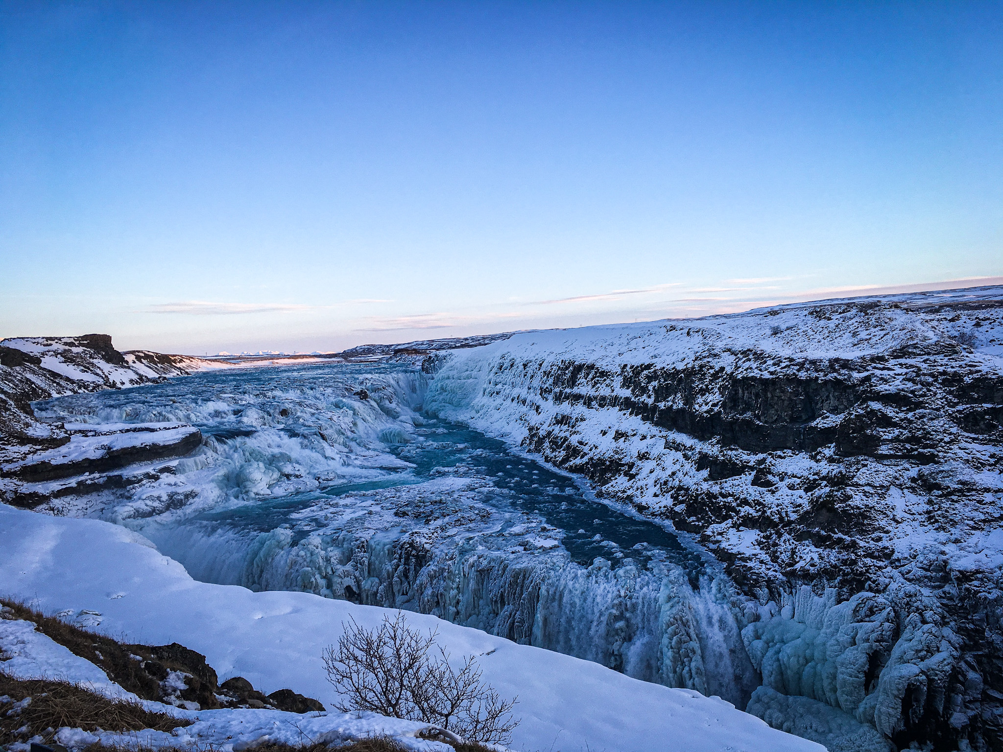
<path id="1" fill-rule="evenodd" d="M 723 576 L 690 584 L 679 566 L 512 552 L 490 534 L 422 545 L 399 530 L 238 532 L 207 522 L 147 530 L 199 580 L 401 608 L 576 656 L 628 676 L 718 695 L 744 708 L 758 686 Z M 495 541 L 496 542 L 496 541 Z"/>

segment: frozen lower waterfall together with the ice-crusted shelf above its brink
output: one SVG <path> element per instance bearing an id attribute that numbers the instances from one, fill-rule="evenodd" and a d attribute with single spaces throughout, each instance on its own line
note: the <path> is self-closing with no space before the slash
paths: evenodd
<path id="1" fill-rule="evenodd" d="M 432 614 L 744 707 L 758 684 L 723 578 L 664 557 L 590 566 L 564 533 L 447 478 L 342 496 L 268 531 L 194 520 L 147 530 L 199 580 Z"/>

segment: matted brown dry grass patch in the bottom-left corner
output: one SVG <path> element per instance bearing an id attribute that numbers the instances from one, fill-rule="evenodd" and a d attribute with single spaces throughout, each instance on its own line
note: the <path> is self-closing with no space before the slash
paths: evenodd
<path id="1" fill-rule="evenodd" d="M 30 697 L 31 703 L 13 716 L 7 715 L 10 703 L 2 706 L 0 744 L 17 741 L 19 736 L 23 740 L 34 734 L 48 739 L 52 731 L 46 730 L 55 730 L 60 726 L 85 731 L 97 728 L 105 731 L 171 731 L 191 723 L 165 713 L 152 713 L 135 702 L 109 700 L 84 686 L 50 679 L 14 679 L 0 673 L 0 696 L 3 695 L 8 695 L 14 702 Z M 17 735 L 15 732 L 23 726 L 29 727 L 29 734 Z"/>

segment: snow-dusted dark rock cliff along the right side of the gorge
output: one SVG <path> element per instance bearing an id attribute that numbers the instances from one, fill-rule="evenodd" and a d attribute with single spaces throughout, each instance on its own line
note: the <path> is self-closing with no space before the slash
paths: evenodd
<path id="1" fill-rule="evenodd" d="M 1003 289 L 832 300 L 515 335 L 452 354 L 424 407 L 671 520 L 775 604 L 743 630 L 751 711 L 999 749 L 1001 356 Z"/>

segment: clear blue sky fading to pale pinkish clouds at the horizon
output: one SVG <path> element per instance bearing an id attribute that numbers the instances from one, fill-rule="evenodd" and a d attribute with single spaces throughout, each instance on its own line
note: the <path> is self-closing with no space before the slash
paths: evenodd
<path id="1" fill-rule="evenodd" d="M 999 275 L 1001 2 L 0 1 L 0 336 L 332 350 Z"/>

